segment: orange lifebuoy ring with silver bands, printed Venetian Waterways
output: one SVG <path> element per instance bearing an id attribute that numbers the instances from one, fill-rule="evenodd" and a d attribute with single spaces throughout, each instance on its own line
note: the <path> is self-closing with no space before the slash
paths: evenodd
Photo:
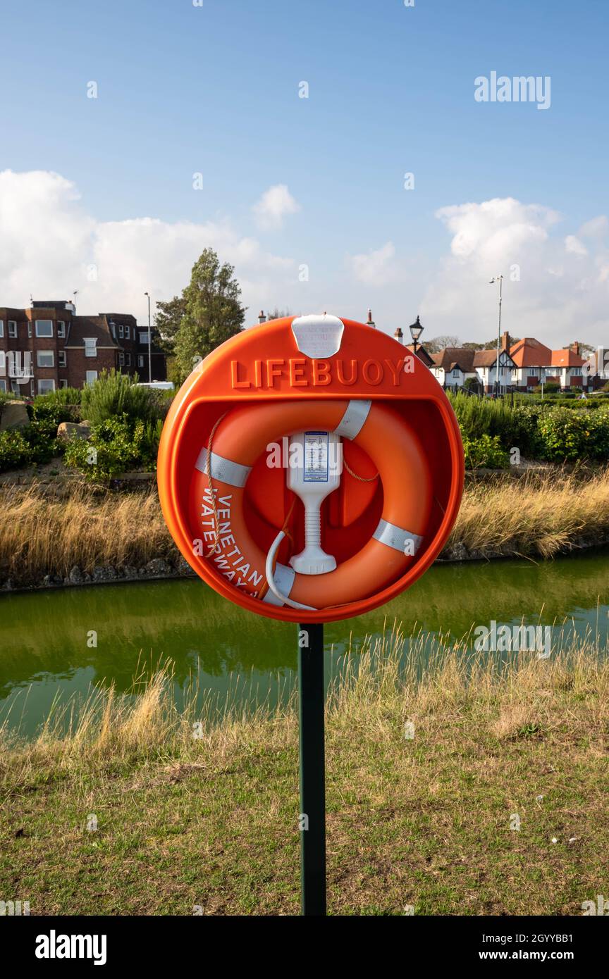
<path id="1" fill-rule="evenodd" d="M 216 422 L 202 446 L 189 490 L 190 527 L 215 574 L 253 598 L 282 601 L 269 588 L 267 554 L 244 511 L 245 488 L 269 443 L 309 429 L 334 432 L 372 459 L 383 488 L 379 524 L 367 543 L 336 570 L 298 574 L 277 564 L 277 590 L 289 604 L 328 609 L 373 595 L 396 582 L 412 564 L 426 530 L 433 492 L 426 453 L 407 420 L 380 400 L 275 400 L 234 407 Z M 211 481 L 210 478 L 211 477 Z"/>

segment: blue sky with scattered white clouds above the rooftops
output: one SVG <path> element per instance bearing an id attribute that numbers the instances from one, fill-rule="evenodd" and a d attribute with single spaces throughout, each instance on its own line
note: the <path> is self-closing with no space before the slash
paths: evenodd
<path id="1" fill-rule="evenodd" d="M 593 226 L 590 246 L 579 229 L 607 210 L 608 11 L 602 0 L 415 0 L 408 8 L 403 0 L 5 5 L 0 170 L 61 174 L 74 190 L 61 192 L 48 218 L 61 222 L 67 211 L 70 224 L 76 207 L 81 220 L 101 223 L 102 237 L 112 222 L 163 222 L 159 249 L 173 249 L 165 263 L 171 273 L 152 259 L 147 267 L 143 249 L 131 270 L 139 277 L 133 294 L 124 281 L 114 290 L 140 316 L 144 280 L 156 280 L 144 284 L 156 298 L 185 284 L 199 242 L 187 236 L 178 256 L 166 241 L 188 222 L 201 227 L 202 246 L 206 234 L 225 246 L 221 257 L 244 279 L 249 319 L 255 303 L 299 312 L 323 304 L 359 318 L 371 304 L 392 332 L 421 312 L 430 336 L 487 339 L 494 301 L 485 276 L 491 268 L 507 275 L 521 252 L 512 332 L 545 331 L 551 339 L 554 323 L 562 331 L 558 346 L 582 333 L 579 308 L 581 339 L 600 343 L 608 325 L 599 273 L 604 231 L 602 222 Z M 492 70 L 550 76 L 550 108 L 476 102 L 474 79 Z M 97 99 L 86 97 L 91 80 Z M 307 99 L 299 98 L 303 80 Z M 201 190 L 193 189 L 196 172 Z M 404 190 L 405 172 L 414 174 L 414 190 Z M 260 223 L 253 206 L 277 185 L 288 188 L 298 210 Z M 14 193 L 9 184 L 5 190 L 18 200 L 29 192 L 22 186 Z M 47 188 L 44 196 L 53 193 Z M 451 239 L 467 237 L 480 214 L 459 212 L 449 228 L 437 211 L 510 198 L 524 210 L 507 209 L 505 254 L 489 247 L 493 219 L 474 256 L 456 256 L 455 266 Z M 527 210 L 533 205 L 547 211 L 536 218 Z M 518 228 L 535 220 L 541 233 L 523 245 Z M 216 239 L 210 224 L 231 231 Z M 89 233 L 99 237 L 99 229 Z M 579 244 L 568 246 L 563 269 L 567 237 Z M 244 240 L 256 243 L 245 257 Z M 99 266 L 93 284 L 82 272 L 91 255 L 81 256 L 80 271 L 78 256 L 68 255 L 63 273 L 54 246 L 54 294 L 79 288 L 87 305 L 81 311 L 110 303 L 112 265 L 100 256 L 121 247 L 111 236 L 84 249 Z M 19 268 L 0 258 L 9 288 L 20 293 L 25 281 L 38 295 L 50 288 L 44 252 L 18 251 Z M 378 251 L 366 272 L 366 256 Z M 457 267 L 463 260 L 465 270 Z M 307 282 L 298 280 L 302 263 Z M 581 302 L 566 312 L 578 293 Z M 0 302 L 26 298 L 11 293 Z"/>

